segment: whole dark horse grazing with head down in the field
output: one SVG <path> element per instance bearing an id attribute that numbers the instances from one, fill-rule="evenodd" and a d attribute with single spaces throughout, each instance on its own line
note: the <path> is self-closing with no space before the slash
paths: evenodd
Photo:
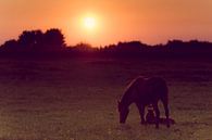
<path id="1" fill-rule="evenodd" d="M 122 100 L 119 101 L 120 123 L 124 124 L 129 113 L 129 105 L 135 103 L 140 113 L 141 124 L 145 124 L 145 106 L 152 104 L 155 112 L 155 128 L 159 128 L 160 111 L 158 102 L 162 101 L 166 126 L 170 127 L 169 106 L 167 106 L 167 86 L 164 79 L 160 77 L 134 79 L 127 87 Z"/>

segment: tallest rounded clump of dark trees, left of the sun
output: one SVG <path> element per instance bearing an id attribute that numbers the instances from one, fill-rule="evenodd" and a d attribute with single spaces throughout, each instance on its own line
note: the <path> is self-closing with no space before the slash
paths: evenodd
<path id="1" fill-rule="evenodd" d="M 11 39 L 1 46 L 4 51 L 57 51 L 65 46 L 64 35 L 58 28 L 41 30 L 24 30 L 18 39 Z"/>

